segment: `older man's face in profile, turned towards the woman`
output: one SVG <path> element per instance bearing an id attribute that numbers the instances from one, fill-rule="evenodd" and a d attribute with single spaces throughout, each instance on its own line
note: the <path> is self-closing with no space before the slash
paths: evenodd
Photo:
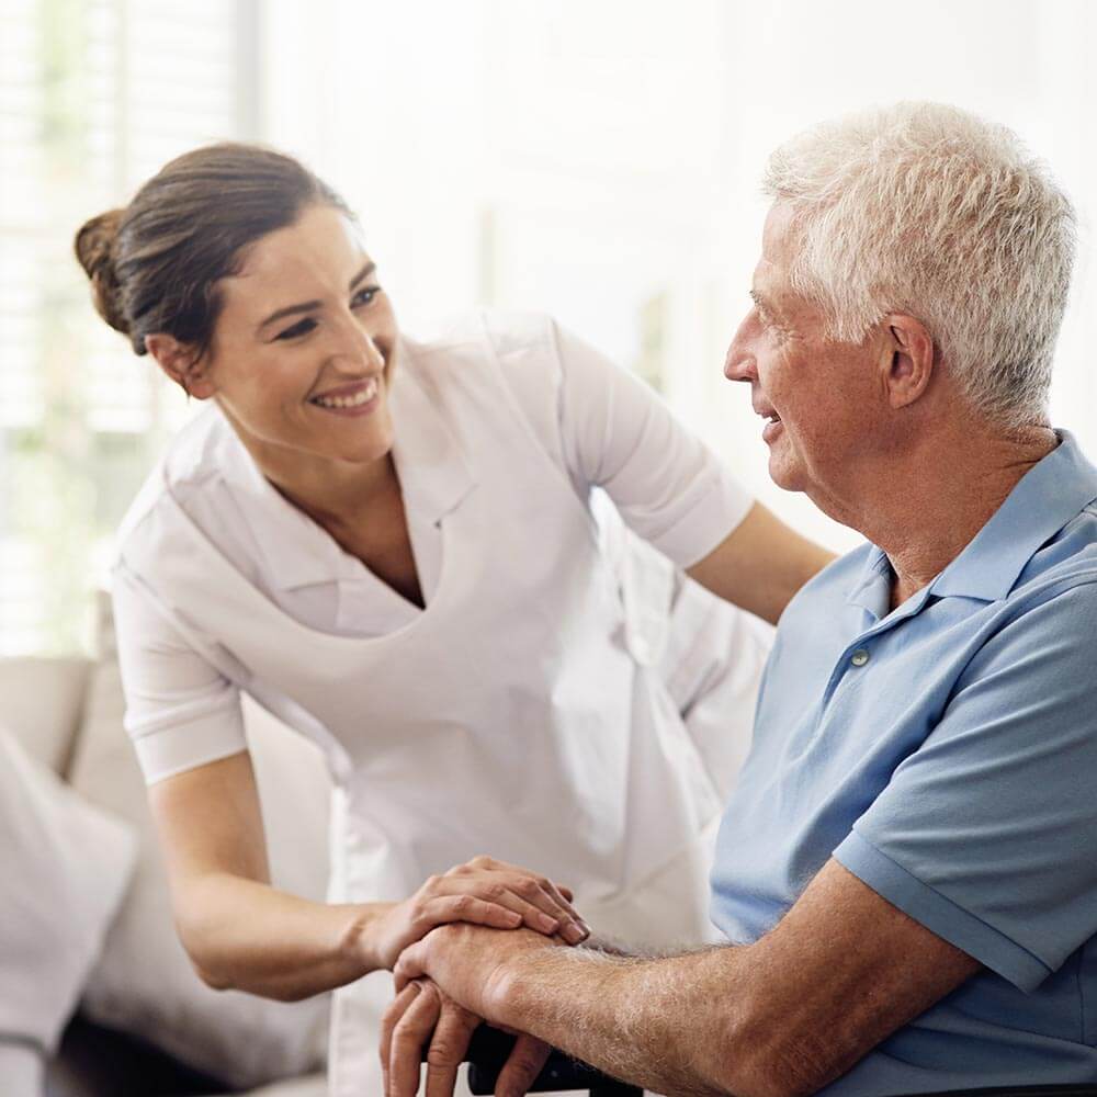
<path id="1" fill-rule="evenodd" d="M 762 438 L 773 482 L 822 505 L 845 496 L 858 455 L 879 431 L 886 393 L 879 337 L 870 332 L 860 343 L 824 338 L 818 309 L 792 292 L 790 223 L 780 204 L 766 219 L 754 305 L 727 350 L 724 375 L 749 383 L 754 409 L 767 420 Z"/>

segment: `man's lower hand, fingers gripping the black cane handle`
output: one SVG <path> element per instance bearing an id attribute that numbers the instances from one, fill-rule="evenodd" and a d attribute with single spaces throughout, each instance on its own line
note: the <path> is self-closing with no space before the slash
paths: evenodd
<path id="1" fill-rule="evenodd" d="M 385 1010 L 381 1026 L 381 1065 L 386 1097 L 419 1092 L 422 1049 L 427 1051 L 427 1097 L 451 1097 L 457 1068 L 480 1019 L 459 1006 L 426 979 L 407 983 Z M 548 1058 L 548 1045 L 519 1034 L 499 1074 L 499 1097 L 522 1097 Z"/>

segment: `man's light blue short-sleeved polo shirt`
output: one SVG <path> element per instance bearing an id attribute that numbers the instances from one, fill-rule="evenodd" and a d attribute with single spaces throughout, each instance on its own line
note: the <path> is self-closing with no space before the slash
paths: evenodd
<path id="1" fill-rule="evenodd" d="M 828 1097 L 1097 1082 L 1097 468 L 1060 439 L 893 612 L 864 545 L 781 620 L 713 920 L 756 940 L 835 857 L 985 965 Z"/>

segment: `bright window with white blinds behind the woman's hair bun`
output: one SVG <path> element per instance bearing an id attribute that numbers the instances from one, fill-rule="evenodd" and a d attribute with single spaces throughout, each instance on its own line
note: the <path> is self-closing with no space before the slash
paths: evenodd
<path id="1" fill-rule="evenodd" d="M 188 416 L 94 314 L 82 222 L 172 156 L 258 136 L 258 0 L 5 0 L 0 654 L 86 645 L 114 530 Z"/>

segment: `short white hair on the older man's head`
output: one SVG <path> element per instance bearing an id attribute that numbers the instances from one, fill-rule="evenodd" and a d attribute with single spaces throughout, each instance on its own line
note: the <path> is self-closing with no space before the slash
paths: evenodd
<path id="1" fill-rule="evenodd" d="M 975 408 L 1009 427 L 1047 421 L 1075 217 L 1014 133 L 898 103 L 794 137 L 764 189 L 791 207 L 792 289 L 828 338 L 858 342 L 909 314 Z"/>

